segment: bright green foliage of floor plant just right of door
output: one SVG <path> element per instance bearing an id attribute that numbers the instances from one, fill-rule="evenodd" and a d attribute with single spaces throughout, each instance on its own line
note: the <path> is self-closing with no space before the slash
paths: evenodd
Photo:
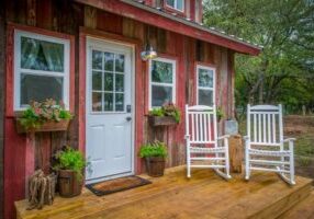
<path id="1" fill-rule="evenodd" d="M 149 157 L 167 157 L 167 147 L 164 142 L 155 141 L 153 143 L 146 143 L 141 147 L 139 150 L 141 158 L 149 158 Z"/>

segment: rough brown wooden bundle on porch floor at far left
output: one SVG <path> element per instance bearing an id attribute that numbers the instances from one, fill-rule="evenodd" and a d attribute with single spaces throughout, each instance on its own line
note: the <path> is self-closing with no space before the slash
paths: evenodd
<path id="1" fill-rule="evenodd" d="M 42 209 L 44 205 L 52 205 L 55 198 L 56 175 L 54 173 L 45 175 L 42 170 L 37 170 L 29 181 L 29 207 Z"/>

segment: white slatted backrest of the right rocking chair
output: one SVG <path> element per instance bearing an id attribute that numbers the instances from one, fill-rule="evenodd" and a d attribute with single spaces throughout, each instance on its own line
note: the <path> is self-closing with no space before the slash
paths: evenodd
<path id="1" fill-rule="evenodd" d="M 250 145 L 280 146 L 283 140 L 282 106 L 248 105 L 247 113 Z"/>

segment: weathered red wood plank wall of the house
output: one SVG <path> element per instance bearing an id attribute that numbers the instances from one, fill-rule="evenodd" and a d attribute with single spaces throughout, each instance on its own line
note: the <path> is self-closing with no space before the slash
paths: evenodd
<path id="1" fill-rule="evenodd" d="M 27 9 L 27 10 L 25 10 Z M 30 11 L 32 13 L 30 13 Z M 4 118 L 4 218 L 14 218 L 13 201 L 25 197 L 26 178 L 36 168 L 48 170 L 52 152 L 65 143 L 85 151 L 85 37 L 99 36 L 132 43 L 136 46 L 136 140 L 138 149 L 143 142 L 158 138 L 168 145 L 167 165 L 183 164 L 184 104 L 194 104 L 195 64 L 216 67 L 216 103 L 227 116 L 233 116 L 233 51 L 170 31 L 149 27 L 147 24 L 100 11 L 91 7 L 61 0 L 15 0 L 5 1 L 7 22 L 7 100 Z M 23 136 L 15 132 L 12 112 L 13 81 L 13 31 L 15 24 L 42 28 L 72 36 L 75 51 L 71 54 L 75 91 L 74 112 L 77 115 L 69 131 Z M 18 26 L 19 26 L 18 25 Z M 16 26 L 16 25 L 15 25 Z M 35 30 L 35 28 L 34 28 Z M 147 36 L 148 35 L 148 36 Z M 147 38 L 164 57 L 177 60 L 177 105 L 182 112 L 182 123 L 176 127 L 154 130 L 147 123 L 148 113 L 148 64 L 142 61 L 139 53 Z M 0 39 L 1 41 L 1 39 Z M 1 45 L 1 44 L 0 44 Z M 2 48 L 1 48 L 2 49 Z M 9 76 L 9 78 L 8 78 Z M 223 127 L 221 126 L 221 131 Z M 135 153 L 136 154 L 136 153 Z M 34 159 L 35 158 L 35 159 Z M 144 171 L 136 158 L 136 173 Z"/>

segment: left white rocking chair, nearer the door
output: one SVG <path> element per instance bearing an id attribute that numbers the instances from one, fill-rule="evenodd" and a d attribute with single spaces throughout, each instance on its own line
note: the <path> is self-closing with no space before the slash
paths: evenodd
<path id="1" fill-rule="evenodd" d="M 217 137 L 215 105 L 186 105 L 186 140 L 188 177 L 191 177 L 191 168 L 208 168 L 225 180 L 231 178 L 228 136 Z M 218 146 L 218 140 L 223 140 L 223 146 Z"/>

